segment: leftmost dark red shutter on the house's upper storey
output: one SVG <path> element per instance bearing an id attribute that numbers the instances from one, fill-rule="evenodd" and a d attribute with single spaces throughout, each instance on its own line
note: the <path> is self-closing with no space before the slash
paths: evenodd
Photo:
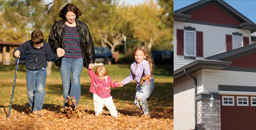
<path id="1" fill-rule="evenodd" d="M 184 30 L 177 29 L 177 55 L 184 55 Z"/>

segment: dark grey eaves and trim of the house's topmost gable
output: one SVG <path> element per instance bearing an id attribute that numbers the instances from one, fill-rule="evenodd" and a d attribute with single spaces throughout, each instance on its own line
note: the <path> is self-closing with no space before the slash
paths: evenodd
<path id="1" fill-rule="evenodd" d="M 245 30 L 251 30 L 251 33 L 256 31 L 256 24 L 251 21 L 249 18 L 245 17 L 243 14 L 238 12 L 238 10 L 234 9 L 232 6 L 228 5 L 228 3 L 224 1 L 198 1 L 195 2 L 189 6 L 183 7 L 182 9 L 178 9 L 174 12 L 174 21 L 180 21 L 180 22 L 188 22 L 191 15 L 188 15 L 189 12 L 193 12 L 197 8 L 201 7 L 202 5 L 213 2 L 219 5 L 221 8 L 225 10 L 225 12 L 228 12 L 231 16 L 235 17 L 237 20 L 240 21 L 240 24 L 238 26 L 235 26 L 235 28 L 239 29 L 245 29 Z M 253 13 L 253 12 L 252 12 Z M 189 21 L 191 22 L 191 21 Z M 219 25 L 223 26 L 223 25 Z M 229 26 L 232 28 L 232 26 Z"/>

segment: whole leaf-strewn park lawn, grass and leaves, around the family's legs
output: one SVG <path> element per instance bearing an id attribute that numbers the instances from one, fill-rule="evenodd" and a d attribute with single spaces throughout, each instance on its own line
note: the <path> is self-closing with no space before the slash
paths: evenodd
<path id="1" fill-rule="evenodd" d="M 7 118 L 12 97 L 15 65 L 0 66 L 0 129 L 173 129 L 173 77 L 172 66 L 156 66 L 153 70 L 155 89 L 148 98 L 152 117 L 141 116 L 134 105 L 135 82 L 121 88 L 112 88 L 111 95 L 119 118 L 103 114 L 94 116 L 90 78 L 84 68 L 81 74 L 81 97 L 78 109 L 63 114 L 62 82 L 57 67 L 46 79 L 46 97 L 41 117 L 30 113 L 26 88 L 26 69 L 20 64 L 17 72 L 10 118 Z M 116 82 L 129 75 L 129 65 L 106 66 Z"/>

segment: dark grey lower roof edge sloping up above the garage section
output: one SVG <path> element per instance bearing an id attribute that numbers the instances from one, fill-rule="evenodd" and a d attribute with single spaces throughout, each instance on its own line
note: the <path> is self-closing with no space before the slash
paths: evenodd
<path id="1" fill-rule="evenodd" d="M 245 55 L 256 52 L 256 44 L 246 45 L 245 47 L 232 49 L 231 51 L 219 53 L 217 55 L 209 56 L 205 59 L 195 60 L 192 63 L 187 64 L 174 71 L 174 80 L 185 77 L 187 73 L 191 74 L 195 71 L 201 69 L 210 69 L 210 70 L 222 70 L 223 68 L 228 67 L 232 62 L 232 59 L 240 58 Z"/>

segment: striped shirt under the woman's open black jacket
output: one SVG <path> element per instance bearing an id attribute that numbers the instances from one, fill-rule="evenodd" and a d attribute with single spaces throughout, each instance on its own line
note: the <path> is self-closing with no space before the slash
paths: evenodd
<path id="1" fill-rule="evenodd" d="M 64 50 L 66 58 L 82 58 L 82 49 L 80 39 L 77 34 L 77 26 L 71 27 L 65 24 L 65 42 Z"/>

